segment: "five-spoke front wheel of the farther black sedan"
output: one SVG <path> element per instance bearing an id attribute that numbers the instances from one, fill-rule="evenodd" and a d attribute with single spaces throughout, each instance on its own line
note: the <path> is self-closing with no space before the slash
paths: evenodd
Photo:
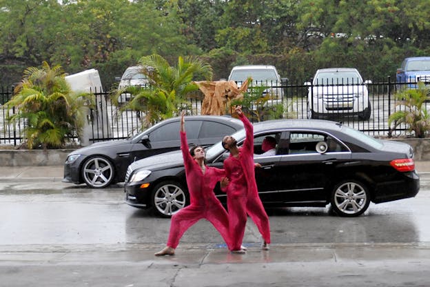
<path id="1" fill-rule="evenodd" d="M 105 157 L 90 157 L 82 166 L 83 182 L 90 188 L 109 186 L 115 175 L 114 166 Z"/>

